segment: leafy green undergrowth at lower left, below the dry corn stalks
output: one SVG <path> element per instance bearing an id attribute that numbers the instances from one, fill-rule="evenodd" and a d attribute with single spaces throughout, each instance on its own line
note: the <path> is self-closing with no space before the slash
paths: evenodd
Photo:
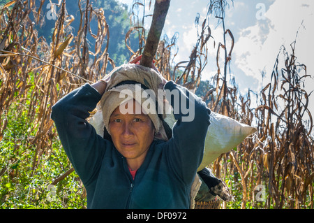
<path id="1" fill-rule="evenodd" d="M 43 151 L 33 169 L 33 159 L 39 156 L 28 143 L 36 132 L 27 118 L 30 100 L 27 94 L 24 106 L 15 101 L 8 110 L 8 127 L 0 142 L 0 208 L 86 207 L 84 187 L 75 172 L 54 187 L 50 185 L 71 167 L 59 138 Z"/>

